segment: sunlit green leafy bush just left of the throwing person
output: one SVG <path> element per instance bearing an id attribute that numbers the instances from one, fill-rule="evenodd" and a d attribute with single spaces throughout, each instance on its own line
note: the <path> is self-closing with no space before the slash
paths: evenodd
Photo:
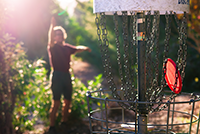
<path id="1" fill-rule="evenodd" d="M 44 63 L 41 59 L 33 63 L 27 59 L 17 61 L 18 82 L 22 88 L 15 104 L 13 117 L 15 129 L 30 130 L 38 118 L 43 121 L 48 120 L 51 91 Z"/>

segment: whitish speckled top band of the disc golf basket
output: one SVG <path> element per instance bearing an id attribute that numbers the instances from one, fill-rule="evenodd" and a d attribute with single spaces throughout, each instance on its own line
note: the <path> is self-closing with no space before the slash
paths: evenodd
<path id="1" fill-rule="evenodd" d="M 93 12 L 113 14 L 116 11 L 174 11 L 189 12 L 189 0 L 94 0 Z"/>

